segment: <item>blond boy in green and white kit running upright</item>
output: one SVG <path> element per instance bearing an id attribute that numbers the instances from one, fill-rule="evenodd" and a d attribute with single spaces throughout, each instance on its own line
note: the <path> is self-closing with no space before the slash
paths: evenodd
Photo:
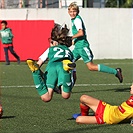
<path id="1" fill-rule="evenodd" d="M 74 60 L 77 61 L 82 57 L 84 63 L 86 63 L 90 71 L 99 71 L 114 74 L 119 79 L 120 83 L 122 83 L 123 77 L 121 68 L 114 69 L 103 64 L 97 65 L 93 63 L 93 53 L 90 49 L 90 44 L 87 41 L 85 25 L 81 16 L 79 16 L 79 7 L 75 2 L 69 5 L 68 14 L 71 17 L 73 33 L 72 39 L 73 44 L 75 45 L 73 50 Z"/>

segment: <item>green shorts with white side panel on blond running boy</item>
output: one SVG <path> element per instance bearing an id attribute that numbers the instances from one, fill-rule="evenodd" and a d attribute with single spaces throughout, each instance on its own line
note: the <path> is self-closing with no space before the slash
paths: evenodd
<path id="1" fill-rule="evenodd" d="M 74 48 L 72 51 L 74 55 L 74 60 L 77 61 L 79 58 L 82 58 L 84 63 L 91 62 L 93 60 L 93 53 L 91 49 L 87 46 L 83 48 Z"/>

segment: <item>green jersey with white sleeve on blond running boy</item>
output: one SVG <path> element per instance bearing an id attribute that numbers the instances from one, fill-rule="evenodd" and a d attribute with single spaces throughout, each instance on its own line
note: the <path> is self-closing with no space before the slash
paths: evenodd
<path id="1" fill-rule="evenodd" d="M 85 29 L 85 25 L 84 25 L 82 18 L 79 15 L 77 15 L 74 19 L 71 19 L 71 22 L 72 22 L 72 34 L 73 35 L 77 34 L 79 29 L 82 29 L 84 32 L 83 36 L 74 39 L 75 47 L 82 48 L 82 47 L 88 46 L 89 43 L 87 41 L 86 29 Z M 80 24 L 78 22 L 80 22 L 81 25 L 78 25 Z"/>

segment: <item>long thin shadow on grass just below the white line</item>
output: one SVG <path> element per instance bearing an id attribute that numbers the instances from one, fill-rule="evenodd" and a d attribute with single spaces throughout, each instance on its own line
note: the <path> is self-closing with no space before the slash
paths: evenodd
<path id="1" fill-rule="evenodd" d="M 129 92 L 130 88 L 113 88 L 113 89 L 97 89 L 97 90 L 89 90 L 88 91 L 79 91 L 79 92 L 72 92 L 72 93 L 86 93 L 86 92 L 98 92 L 98 91 L 114 91 L 114 92 Z"/>

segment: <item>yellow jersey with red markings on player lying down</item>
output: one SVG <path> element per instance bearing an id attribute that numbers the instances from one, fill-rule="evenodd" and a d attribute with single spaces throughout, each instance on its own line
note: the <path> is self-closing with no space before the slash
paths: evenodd
<path id="1" fill-rule="evenodd" d="M 105 107 L 103 120 L 107 124 L 117 124 L 131 118 L 133 118 L 133 96 L 120 106 L 107 104 Z"/>

